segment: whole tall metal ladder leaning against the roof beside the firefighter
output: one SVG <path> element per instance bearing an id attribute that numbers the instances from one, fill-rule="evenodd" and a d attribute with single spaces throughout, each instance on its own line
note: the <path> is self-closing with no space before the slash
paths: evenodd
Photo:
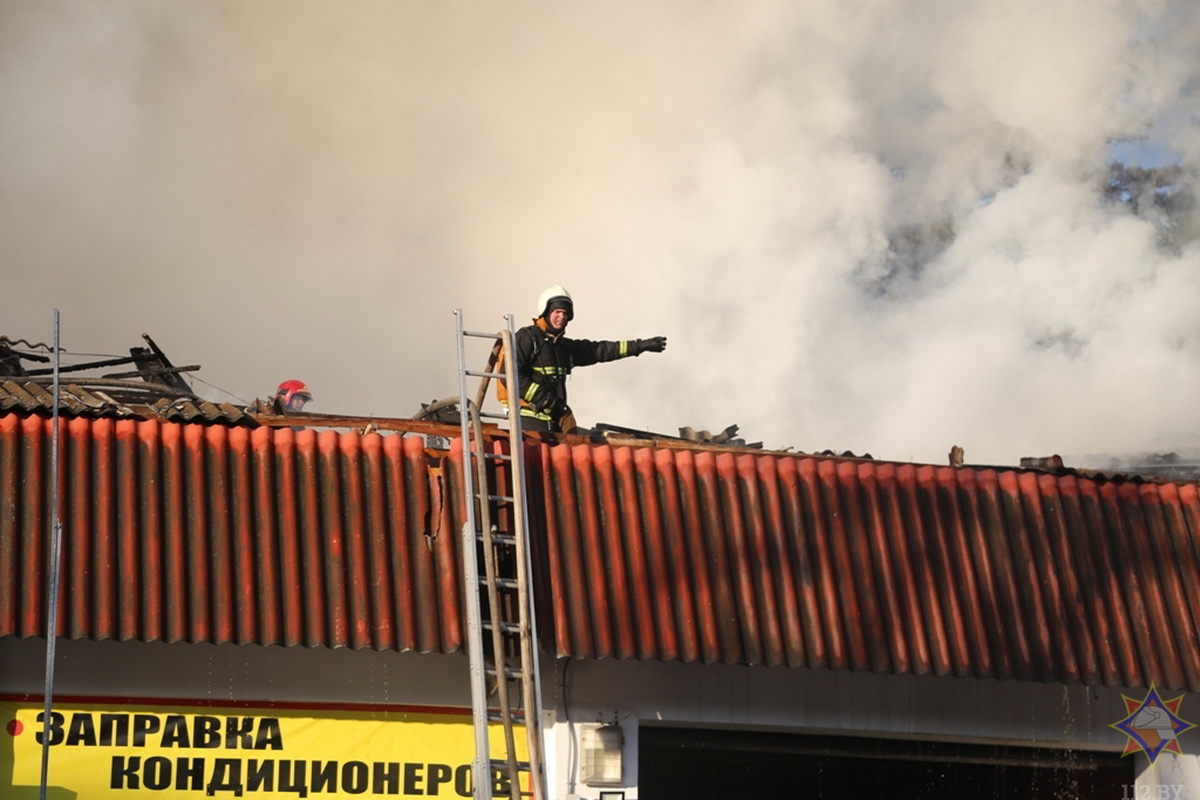
<path id="1" fill-rule="evenodd" d="M 458 341 L 458 397 L 462 404 L 462 467 L 467 522 L 462 529 L 467 588 L 467 650 L 470 656 L 470 697 L 474 711 L 475 759 L 472 766 L 475 800 L 532 796 L 545 800 L 542 763 L 541 680 L 538 668 L 538 628 L 530 596 L 529 535 L 526 525 L 524 459 L 520 403 L 506 414 L 481 410 L 487 381 L 504 380 L 508 396 L 517 398 L 512 314 L 499 333 L 468 331 L 462 309 L 455 311 Z M 499 348 L 487 368 L 467 369 L 467 339 L 503 343 L 505 371 L 494 369 Z M 467 379 L 480 378 L 475 399 Z M 509 450 L 493 452 L 484 439 L 484 419 L 508 420 Z M 482 570 L 480 570 L 482 561 Z M 517 691 L 520 687 L 520 691 Z M 516 697 L 514 697 L 516 696 Z M 502 753 L 492 758 L 488 724 L 504 729 Z M 524 728 L 528 759 L 518 758 L 517 728 Z"/>

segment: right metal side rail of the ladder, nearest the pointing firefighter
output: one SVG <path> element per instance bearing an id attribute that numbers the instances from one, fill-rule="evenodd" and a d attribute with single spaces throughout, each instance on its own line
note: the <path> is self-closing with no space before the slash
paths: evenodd
<path id="1" fill-rule="evenodd" d="M 506 318 L 504 345 L 512 357 L 504 360 L 504 381 L 508 395 L 520 398 L 521 391 L 516 374 L 516 331 L 512 314 Z M 534 800 L 545 800 L 545 769 L 542 765 L 541 735 L 541 672 L 538 664 L 538 625 L 532 601 L 533 570 L 529 558 L 528 507 L 526 505 L 526 468 L 524 437 L 521 431 L 521 403 L 509 403 L 509 456 L 512 459 L 512 518 L 514 535 L 517 540 L 517 575 L 521 636 L 521 661 L 523 670 L 523 705 L 526 711 L 526 735 L 529 745 L 529 776 L 533 784 Z"/>

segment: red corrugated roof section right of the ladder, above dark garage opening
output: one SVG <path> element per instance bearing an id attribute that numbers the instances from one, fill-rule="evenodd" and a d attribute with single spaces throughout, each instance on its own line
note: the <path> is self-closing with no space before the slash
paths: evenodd
<path id="1" fill-rule="evenodd" d="M 1200 688 L 1194 483 L 592 445 L 529 463 L 557 655 Z"/>

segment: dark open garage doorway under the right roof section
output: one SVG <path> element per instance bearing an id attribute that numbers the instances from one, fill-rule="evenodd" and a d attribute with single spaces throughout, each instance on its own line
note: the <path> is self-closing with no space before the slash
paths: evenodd
<path id="1" fill-rule="evenodd" d="M 1117 753 L 643 726 L 642 800 L 1122 800 L 1134 762 Z"/>

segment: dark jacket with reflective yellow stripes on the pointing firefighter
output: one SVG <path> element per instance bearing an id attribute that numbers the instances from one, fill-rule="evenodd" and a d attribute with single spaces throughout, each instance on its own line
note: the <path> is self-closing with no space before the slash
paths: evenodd
<path id="1" fill-rule="evenodd" d="M 546 320 L 517 331 L 517 385 L 521 389 L 521 415 L 557 423 L 570 413 L 566 404 L 566 377 L 575 367 L 614 361 L 637 355 L 635 341 L 593 342 L 551 336 Z M 504 354 L 497 372 L 503 372 Z M 497 396 L 508 404 L 504 383 L 497 383 Z"/>

